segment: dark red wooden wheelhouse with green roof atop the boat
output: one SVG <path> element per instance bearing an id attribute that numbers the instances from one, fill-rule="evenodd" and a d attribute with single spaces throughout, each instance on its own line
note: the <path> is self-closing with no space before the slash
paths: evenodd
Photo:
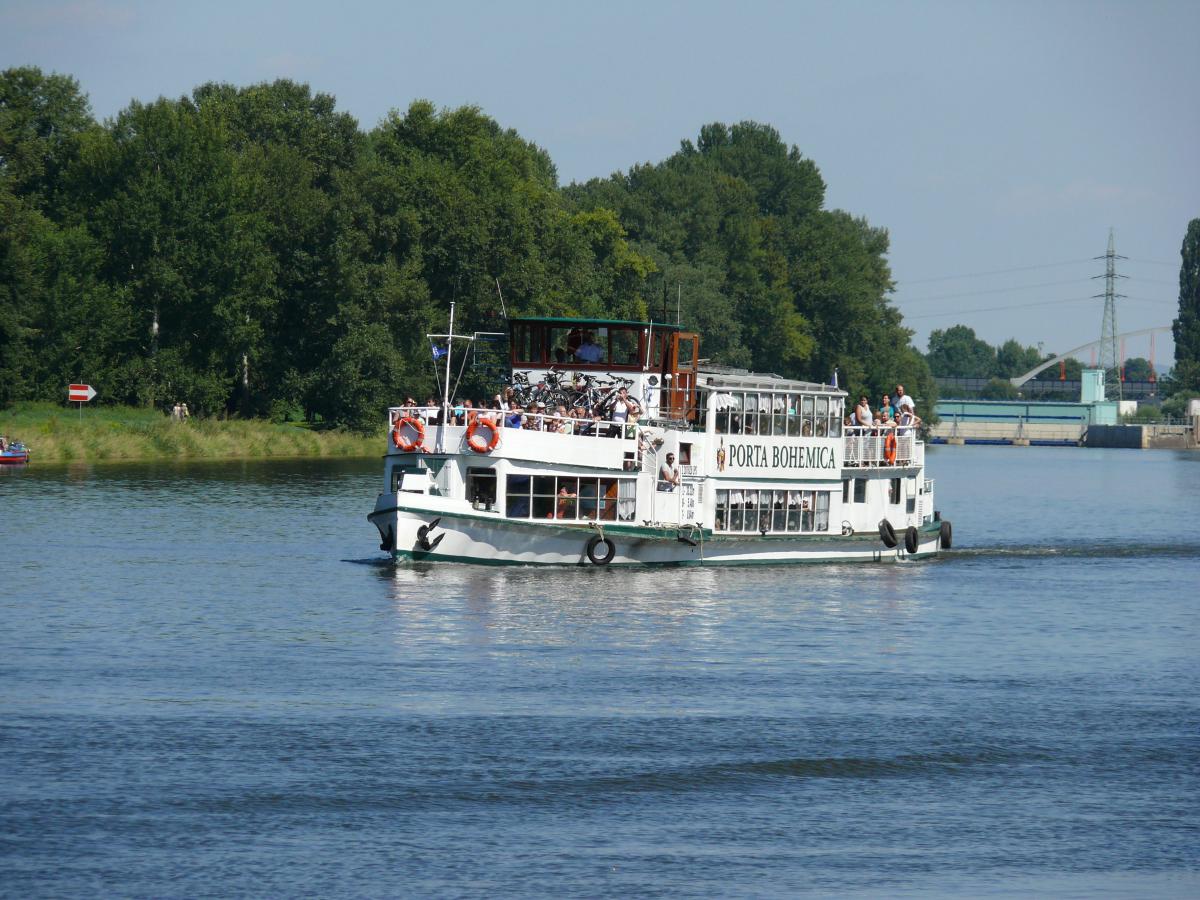
<path id="1" fill-rule="evenodd" d="M 658 372 L 678 325 L 624 319 L 528 317 L 509 319 L 514 368 L 570 366 L 606 372 Z"/>

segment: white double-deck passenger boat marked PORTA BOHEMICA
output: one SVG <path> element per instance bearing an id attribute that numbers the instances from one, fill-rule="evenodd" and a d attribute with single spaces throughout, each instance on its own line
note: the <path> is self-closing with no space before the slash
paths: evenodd
<path id="1" fill-rule="evenodd" d="M 451 310 L 451 334 L 431 336 L 446 354 L 452 322 Z M 571 420 L 572 433 L 484 413 L 455 424 L 446 355 L 439 407 L 389 409 L 367 518 L 394 559 L 750 565 L 950 546 L 924 443 L 911 427 L 844 426 L 836 385 L 702 365 L 696 334 L 654 322 L 514 318 L 508 352 L 517 384 L 628 385 L 638 420 Z"/>

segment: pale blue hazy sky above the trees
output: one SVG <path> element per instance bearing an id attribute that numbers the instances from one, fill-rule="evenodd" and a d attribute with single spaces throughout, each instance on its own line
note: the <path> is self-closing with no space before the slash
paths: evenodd
<path id="1" fill-rule="evenodd" d="M 1171 324 L 1200 216 L 1198 34 L 1195 0 L 0 0 L 0 66 L 73 76 L 98 119 L 290 78 L 364 130 L 418 98 L 478 106 L 563 184 L 659 162 L 708 122 L 768 124 L 828 208 L 888 229 L 923 350 L 955 324 L 1096 341 L 1110 228 L 1117 330 Z M 1153 353 L 1170 365 L 1169 332 Z"/>

